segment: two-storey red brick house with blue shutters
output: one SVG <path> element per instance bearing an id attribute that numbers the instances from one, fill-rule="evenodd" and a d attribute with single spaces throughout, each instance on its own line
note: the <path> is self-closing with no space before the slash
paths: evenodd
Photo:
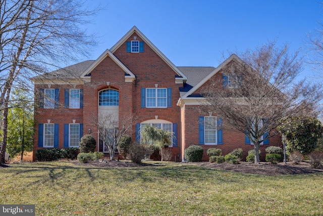
<path id="1" fill-rule="evenodd" d="M 197 94 L 200 88 L 211 77 L 223 79 L 222 67 L 237 58 L 232 55 L 217 68 L 176 67 L 134 26 L 95 61 L 32 78 L 40 98 L 34 114 L 33 160 L 41 148 L 78 147 L 80 138 L 88 133 L 97 141 L 96 150 L 106 152 L 93 118 L 107 112 L 118 119 L 135 115 L 129 135 L 139 142 L 144 124 L 174 132 L 172 160 L 182 160 L 190 145 L 205 149 L 203 160 L 208 160 L 208 148 L 221 148 L 223 154 L 242 148 L 245 158 L 253 149 L 250 140 L 242 133 L 204 127 L 201 122 L 222 119 L 198 109 L 203 99 Z M 279 137 L 272 137 L 260 150 L 280 144 Z"/>

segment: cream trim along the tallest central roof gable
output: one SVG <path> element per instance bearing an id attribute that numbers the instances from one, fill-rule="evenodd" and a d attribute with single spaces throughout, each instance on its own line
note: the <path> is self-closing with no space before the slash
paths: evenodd
<path id="1" fill-rule="evenodd" d="M 161 53 L 153 44 L 152 42 L 141 32 L 139 29 L 134 26 L 132 27 L 118 42 L 115 44 L 111 49 L 111 53 L 114 53 L 124 42 L 133 34 L 137 33 L 138 36 L 148 45 L 163 61 L 170 66 L 174 72 L 177 74 L 176 80 L 183 80 L 184 82 L 187 80 L 186 75 L 179 70 L 163 53 Z"/>

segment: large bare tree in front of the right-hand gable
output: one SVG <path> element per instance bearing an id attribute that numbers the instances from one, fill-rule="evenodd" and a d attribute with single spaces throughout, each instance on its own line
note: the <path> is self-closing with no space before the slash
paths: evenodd
<path id="1" fill-rule="evenodd" d="M 245 134 L 254 145 L 259 163 L 259 145 L 277 134 L 282 117 L 315 115 L 322 99 L 321 87 L 306 80 L 297 81 L 302 69 L 298 53 L 289 55 L 288 46 L 268 42 L 255 51 L 232 55 L 223 63 L 223 79 L 213 78 L 204 88 L 205 112 L 224 119 L 223 127 Z"/>

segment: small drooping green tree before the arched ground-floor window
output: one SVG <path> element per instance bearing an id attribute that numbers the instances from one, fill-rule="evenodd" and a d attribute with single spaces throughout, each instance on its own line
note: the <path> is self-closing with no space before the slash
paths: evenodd
<path id="1" fill-rule="evenodd" d="M 173 132 L 163 131 L 149 124 L 141 128 L 141 138 L 143 143 L 150 143 L 153 147 L 159 150 L 161 161 L 164 160 L 163 150 L 172 144 Z"/>

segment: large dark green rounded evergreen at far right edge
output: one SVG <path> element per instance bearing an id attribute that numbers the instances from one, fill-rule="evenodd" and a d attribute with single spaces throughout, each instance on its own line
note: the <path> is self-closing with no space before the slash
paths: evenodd
<path id="1" fill-rule="evenodd" d="M 295 116 L 284 118 L 281 121 L 283 124 L 277 129 L 286 137 L 287 151 L 298 151 L 302 155 L 306 155 L 315 150 L 323 132 L 323 127 L 318 119 Z"/>

